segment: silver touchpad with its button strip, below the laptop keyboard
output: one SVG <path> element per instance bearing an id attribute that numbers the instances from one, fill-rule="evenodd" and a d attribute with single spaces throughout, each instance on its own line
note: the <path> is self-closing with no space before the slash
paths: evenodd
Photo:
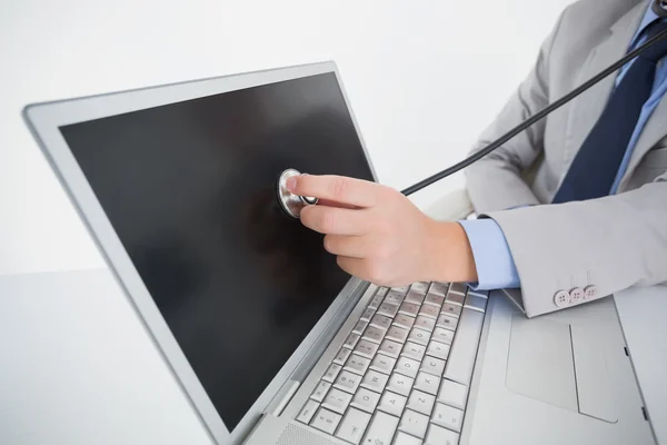
<path id="1" fill-rule="evenodd" d="M 515 313 L 506 386 L 526 397 L 616 422 L 605 344 L 596 332 L 596 324 L 528 319 Z"/>

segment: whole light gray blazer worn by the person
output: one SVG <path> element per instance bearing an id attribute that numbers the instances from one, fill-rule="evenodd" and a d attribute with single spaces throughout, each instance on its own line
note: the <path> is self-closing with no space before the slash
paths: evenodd
<path id="1" fill-rule="evenodd" d="M 569 6 L 531 72 L 472 151 L 621 58 L 648 4 L 580 0 Z M 667 97 L 645 127 L 617 195 L 544 205 L 558 190 L 614 81 L 609 76 L 467 170 L 477 214 L 494 218 L 507 238 L 529 317 L 667 281 Z M 571 293 L 587 286 L 595 287 L 583 299 Z M 557 304 L 563 290 L 574 298 Z"/>

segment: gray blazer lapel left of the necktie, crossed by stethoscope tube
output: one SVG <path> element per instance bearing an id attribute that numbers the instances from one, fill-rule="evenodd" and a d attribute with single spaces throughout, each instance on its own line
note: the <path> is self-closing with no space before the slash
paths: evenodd
<path id="1" fill-rule="evenodd" d="M 646 2 L 641 1 L 614 23 L 607 38 L 590 52 L 581 69 L 578 85 L 590 79 L 627 53 L 630 41 L 645 12 Z M 570 131 L 568 131 L 569 138 L 565 150 L 563 177 L 567 174 L 575 155 L 603 113 L 615 81 L 616 76 L 610 75 L 575 99 L 570 115 Z"/>

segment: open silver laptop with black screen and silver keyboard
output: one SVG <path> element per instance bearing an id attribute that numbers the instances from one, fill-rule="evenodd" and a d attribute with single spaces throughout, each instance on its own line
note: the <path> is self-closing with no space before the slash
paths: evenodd
<path id="1" fill-rule="evenodd" d="M 636 306 L 624 318 L 604 298 L 528 319 L 516 290 L 378 287 L 282 211 L 288 168 L 377 180 L 334 62 L 31 105 L 24 118 L 107 285 L 215 443 L 665 441 L 665 417 L 651 417 L 664 398 L 646 395 L 661 394 L 648 369 L 667 354 L 637 330 Z"/>

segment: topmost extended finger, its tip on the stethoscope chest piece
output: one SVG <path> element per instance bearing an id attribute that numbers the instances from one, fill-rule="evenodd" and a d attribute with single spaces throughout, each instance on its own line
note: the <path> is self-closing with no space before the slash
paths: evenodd
<path id="1" fill-rule="evenodd" d="M 301 175 L 289 178 L 287 188 L 295 195 L 357 207 L 372 207 L 377 202 L 379 185 L 344 176 Z"/>

